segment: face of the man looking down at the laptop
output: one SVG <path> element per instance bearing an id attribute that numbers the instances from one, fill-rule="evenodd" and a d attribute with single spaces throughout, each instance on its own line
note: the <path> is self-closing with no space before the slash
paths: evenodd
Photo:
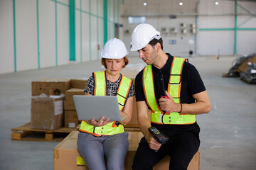
<path id="1" fill-rule="evenodd" d="M 154 64 L 156 61 L 156 50 L 151 45 L 147 44 L 141 50 L 138 50 L 139 58 L 141 58 L 146 64 Z"/>

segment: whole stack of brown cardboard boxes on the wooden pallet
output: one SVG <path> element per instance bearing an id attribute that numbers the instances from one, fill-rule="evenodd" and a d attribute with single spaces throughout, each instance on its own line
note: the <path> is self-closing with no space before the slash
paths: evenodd
<path id="1" fill-rule="evenodd" d="M 79 125 L 73 95 L 84 95 L 87 79 L 39 79 L 31 82 L 31 128 L 56 130 Z"/>

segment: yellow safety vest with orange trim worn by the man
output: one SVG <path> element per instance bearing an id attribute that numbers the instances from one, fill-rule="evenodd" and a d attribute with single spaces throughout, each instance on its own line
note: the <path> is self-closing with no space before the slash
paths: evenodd
<path id="1" fill-rule="evenodd" d="M 174 98 L 175 103 L 181 102 L 181 73 L 185 59 L 174 57 L 171 64 L 171 73 L 169 78 L 168 93 Z M 196 115 L 185 113 L 164 113 L 161 111 L 159 104 L 156 101 L 154 91 L 154 78 L 152 66 L 147 65 L 143 71 L 143 88 L 146 97 L 146 103 L 151 109 L 151 123 L 170 124 L 170 125 L 185 125 L 196 122 Z"/>

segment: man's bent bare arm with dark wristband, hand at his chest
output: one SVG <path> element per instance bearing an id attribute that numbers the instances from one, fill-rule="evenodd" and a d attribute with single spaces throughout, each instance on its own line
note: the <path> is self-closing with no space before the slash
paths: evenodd
<path id="1" fill-rule="evenodd" d="M 198 94 L 194 94 L 193 98 L 195 98 L 195 103 L 182 103 L 182 108 L 180 103 L 175 103 L 174 98 L 167 93 L 168 98 L 160 98 L 159 104 L 160 108 L 163 111 L 171 112 L 179 112 L 191 114 L 191 115 L 199 115 L 203 113 L 210 112 L 210 100 L 207 94 L 207 91 L 202 91 Z"/>

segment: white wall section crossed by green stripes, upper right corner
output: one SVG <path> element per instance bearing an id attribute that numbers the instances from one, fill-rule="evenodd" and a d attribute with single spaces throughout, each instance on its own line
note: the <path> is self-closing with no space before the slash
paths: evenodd
<path id="1" fill-rule="evenodd" d="M 210 8 L 209 0 L 201 1 L 198 5 L 196 41 L 198 55 L 245 55 L 255 53 L 256 30 L 240 30 L 240 28 L 256 28 L 256 18 L 251 15 L 252 13 L 255 15 L 255 12 L 255 2 L 238 1 L 238 30 L 235 40 L 235 1 L 220 1 L 218 6 L 212 8 Z"/>

